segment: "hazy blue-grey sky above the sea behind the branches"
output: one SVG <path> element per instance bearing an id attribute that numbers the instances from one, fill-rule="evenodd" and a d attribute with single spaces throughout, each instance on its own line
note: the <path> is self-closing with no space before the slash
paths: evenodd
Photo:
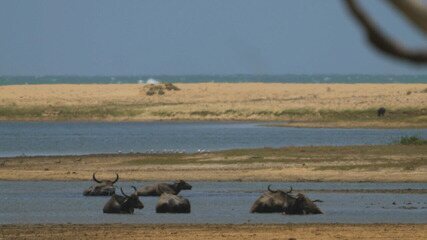
<path id="1" fill-rule="evenodd" d="M 383 1 L 387 32 L 426 46 Z M 0 75 L 419 74 L 367 46 L 341 0 L 0 0 Z"/>

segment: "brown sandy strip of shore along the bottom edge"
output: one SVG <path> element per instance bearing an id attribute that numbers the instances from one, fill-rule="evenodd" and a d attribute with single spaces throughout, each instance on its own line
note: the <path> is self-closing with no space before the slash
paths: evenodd
<path id="1" fill-rule="evenodd" d="M 426 239 L 426 224 L 3 225 L 0 239 Z"/>

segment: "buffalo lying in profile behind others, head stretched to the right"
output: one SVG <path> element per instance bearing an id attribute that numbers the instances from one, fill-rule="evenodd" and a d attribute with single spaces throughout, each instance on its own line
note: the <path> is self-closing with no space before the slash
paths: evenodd
<path id="1" fill-rule="evenodd" d="M 191 190 L 191 185 L 183 180 L 175 181 L 172 184 L 157 183 L 138 189 L 138 196 L 160 196 L 162 193 L 177 195 L 181 190 Z"/>

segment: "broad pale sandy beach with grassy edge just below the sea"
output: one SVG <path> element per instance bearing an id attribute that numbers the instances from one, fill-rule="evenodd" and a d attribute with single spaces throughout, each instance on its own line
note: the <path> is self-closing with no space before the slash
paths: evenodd
<path id="1" fill-rule="evenodd" d="M 427 127 L 427 84 L 0 86 L 0 120 L 257 120 L 313 127 Z M 386 117 L 375 110 L 385 107 Z"/>

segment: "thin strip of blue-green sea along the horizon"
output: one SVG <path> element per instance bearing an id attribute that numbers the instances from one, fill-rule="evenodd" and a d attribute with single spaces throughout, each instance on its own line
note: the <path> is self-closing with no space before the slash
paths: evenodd
<path id="1" fill-rule="evenodd" d="M 0 76 L 0 85 L 121 84 L 148 79 L 171 83 L 427 83 L 427 75 L 140 75 L 140 76 Z"/>

